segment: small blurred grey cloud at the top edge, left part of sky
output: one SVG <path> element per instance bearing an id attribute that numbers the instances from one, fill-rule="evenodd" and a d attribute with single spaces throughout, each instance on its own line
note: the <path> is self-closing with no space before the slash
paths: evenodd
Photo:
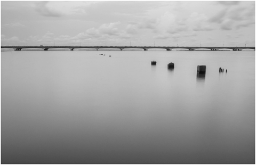
<path id="1" fill-rule="evenodd" d="M 54 10 L 52 7 L 47 6 L 47 3 L 47 1 L 37 2 L 35 10 L 43 16 L 60 17 L 63 15 L 63 13 Z"/>

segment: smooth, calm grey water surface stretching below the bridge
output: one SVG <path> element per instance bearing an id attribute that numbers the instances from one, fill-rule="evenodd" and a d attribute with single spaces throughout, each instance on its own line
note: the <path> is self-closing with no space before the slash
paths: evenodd
<path id="1" fill-rule="evenodd" d="M 254 163 L 255 52 L 9 51 L 1 59 L 2 163 Z"/>

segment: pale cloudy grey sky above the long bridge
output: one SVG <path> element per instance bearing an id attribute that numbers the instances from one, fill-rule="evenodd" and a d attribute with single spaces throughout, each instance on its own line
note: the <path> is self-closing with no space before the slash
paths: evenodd
<path id="1" fill-rule="evenodd" d="M 255 2 L 2 1 L 1 45 L 255 46 Z"/>

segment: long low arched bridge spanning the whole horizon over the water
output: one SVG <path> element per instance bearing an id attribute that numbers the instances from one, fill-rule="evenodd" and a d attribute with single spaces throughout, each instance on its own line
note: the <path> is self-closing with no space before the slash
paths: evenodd
<path id="1" fill-rule="evenodd" d="M 1 48 L 13 48 L 14 51 L 21 51 L 22 49 L 25 48 L 41 48 L 44 51 L 47 51 L 52 48 L 68 48 L 70 51 L 74 51 L 75 49 L 80 49 L 80 48 L 92 48 L 95 50 L 100 50 L 100 49 L 106 49 L 106 48 L 113 48 L 113 49 L 119 49 L 121 51 L 125 49 L 131 49 L 131 48 L 136 48 L 136 49 L 142 49 L 144 51 L 147 51 L 151 48 L 161 48 L 165 49 L 166 51 L 171 51 L 173 49 L 187 49 L 189 51 L 195 51 L 198 49 L 207 49 L 211 51 L 219 51 L 222 49 L 229 49 L 233 51 L 242 51 L 244 49 L 252 49 L 255 51 L 255 47 L 195 47 L 195 46 L 1 46 Z"/>

